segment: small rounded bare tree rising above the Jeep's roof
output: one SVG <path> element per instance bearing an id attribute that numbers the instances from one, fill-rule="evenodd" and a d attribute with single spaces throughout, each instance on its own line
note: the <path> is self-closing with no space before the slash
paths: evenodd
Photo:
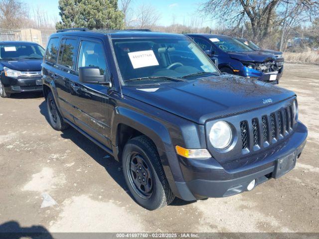
<path id="1" fill-rule="evenodd" d="M 132 23 L 137 28 L 152 28 L 159 19 L 159 12 L 152 5 L 143 3 L 136 9 L 136 19 Z"/>

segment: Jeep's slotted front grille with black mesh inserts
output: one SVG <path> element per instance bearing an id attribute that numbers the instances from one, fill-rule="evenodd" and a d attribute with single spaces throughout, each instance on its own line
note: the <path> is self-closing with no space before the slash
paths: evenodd
<path id="1" fill-rule="evenodd" d="M 240 121 L 242 149 L 251 150 L 256 145 L 259 148 L 266 147 L 276 143 L 291 132 L 293 127 L 292 106 L 282 108 L 269 115 L 263 115 L 261 118 L 255 117 L 251 119 L 251 124 L 248 122 L 250 121 Z M 278 137 L 279 134 L 281 134 L 280 137 Z M 250 138 L 252 142 L 249 141 Z M 254 150 L 258 150 L 258 148 L 254 148 Z"/>

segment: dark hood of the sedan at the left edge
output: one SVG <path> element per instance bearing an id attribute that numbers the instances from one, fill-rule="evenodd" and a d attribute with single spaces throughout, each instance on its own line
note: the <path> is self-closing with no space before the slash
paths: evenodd
<path id="1" fill-rule="evenodd" d="M 7 68 L 17 71 L 40 71 L 42 59 L 0 60 Z"/>

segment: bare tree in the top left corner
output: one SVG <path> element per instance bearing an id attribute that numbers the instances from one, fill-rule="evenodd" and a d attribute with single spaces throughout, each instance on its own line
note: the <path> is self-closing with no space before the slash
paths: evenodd
<path id="1" fill-rule="evenodd" d="M 8 29 L 22 27 L 29 21 L 28 9 L 20 0 L 0 0 L 0 26 Z"/>

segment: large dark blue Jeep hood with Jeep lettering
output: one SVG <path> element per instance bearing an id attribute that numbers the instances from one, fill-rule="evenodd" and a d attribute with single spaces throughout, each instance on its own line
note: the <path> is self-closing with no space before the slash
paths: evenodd
<path id="1" fill-rule="evenodd" d="M 278 86 L 231 75 L 160 86 L 124 86 L 123 94 L 199 124 L 295 96 Z"/>

